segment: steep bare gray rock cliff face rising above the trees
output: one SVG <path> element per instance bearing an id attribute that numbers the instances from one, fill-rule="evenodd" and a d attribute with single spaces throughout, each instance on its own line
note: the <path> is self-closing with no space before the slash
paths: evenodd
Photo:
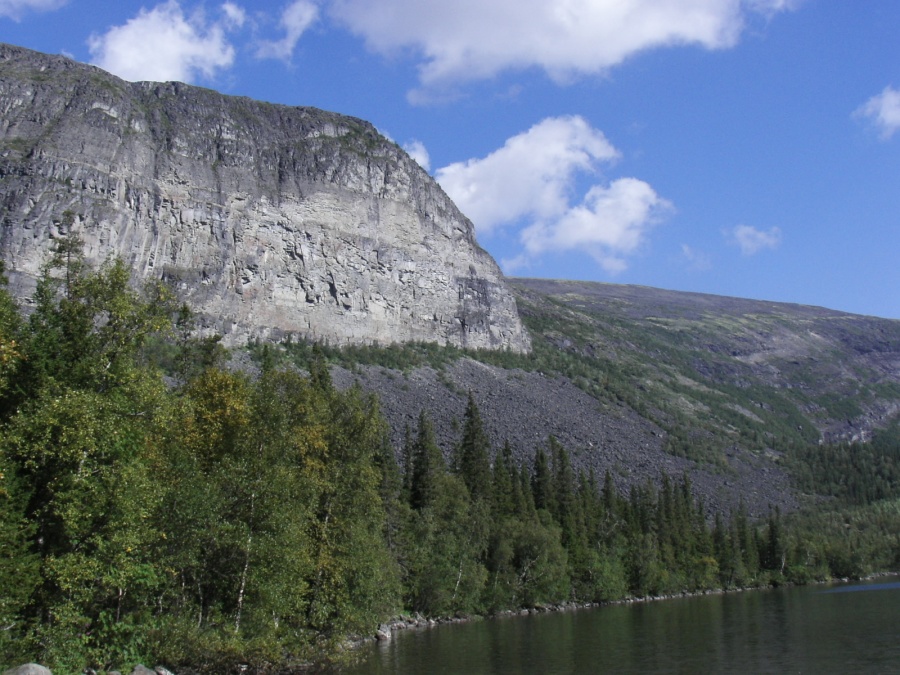
<path id="1" fill-rule="evenodd" d="M 530 348 L 471 222 L 370 124 L 0 45 L 0 256 L 18 297 L 66 211 L 89 259 L 173 282 L 230 343 Z"/>

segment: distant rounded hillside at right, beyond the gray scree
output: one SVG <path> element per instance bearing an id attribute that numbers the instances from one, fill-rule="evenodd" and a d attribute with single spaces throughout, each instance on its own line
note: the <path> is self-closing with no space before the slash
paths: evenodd
<path id="1" fill-rule="evenodd" d="M 900 322 L 639 286 L 515 279 L 535 349 L 669 450 L 865 440 L 900 412 Z"/>

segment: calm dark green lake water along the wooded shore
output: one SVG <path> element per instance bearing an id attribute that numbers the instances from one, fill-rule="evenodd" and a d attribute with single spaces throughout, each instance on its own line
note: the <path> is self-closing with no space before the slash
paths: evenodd
<path id="1" fill-rule="evenodd" d="M 778 588 L 399 631 L 349 673 L 900 673 L 900 581 Z"/>

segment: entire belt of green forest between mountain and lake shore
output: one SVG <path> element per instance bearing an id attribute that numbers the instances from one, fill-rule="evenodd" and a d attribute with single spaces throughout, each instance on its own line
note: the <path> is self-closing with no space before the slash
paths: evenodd
<path id="1" fill-rule="evenodd" d="M 686 476 L 616 491 L 553 437 L 519 465 L 469 396 L 443 451 L 305 371 L 223 365 L 161 284 L 61 240 L 0 288 L 0 664 L 197 672 L 347 658 L 401 613 L 490 614 L 900 566 L 896 446 L 797 453 L 800 515 L 711 513 Z M 872 449 L 874 448 L 874 450 Z M 877 479 L 877 480 L 876 480 Z"/>

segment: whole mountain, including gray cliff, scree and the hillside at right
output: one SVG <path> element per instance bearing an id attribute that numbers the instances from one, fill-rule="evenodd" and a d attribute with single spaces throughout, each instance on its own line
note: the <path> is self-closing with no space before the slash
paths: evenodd
<path id="1" fill-rule="evenodd" d="M 90 261 L 173 283 L 228 344 L 344 346 L 335 380 L 378 393 L 397 448 L 425 409 L 449 456 L 472 392 L 520 463 L 553 435 L 621 489 L 686 473 L 708 505 L 759 516 L 809 491 L 798 449 L 896 428 L 900 322 L 504 279 L 440 187 L 361 120 L 7 45 L 0 111 L 0 257 L 21 300 L 75 232 Z"/>

